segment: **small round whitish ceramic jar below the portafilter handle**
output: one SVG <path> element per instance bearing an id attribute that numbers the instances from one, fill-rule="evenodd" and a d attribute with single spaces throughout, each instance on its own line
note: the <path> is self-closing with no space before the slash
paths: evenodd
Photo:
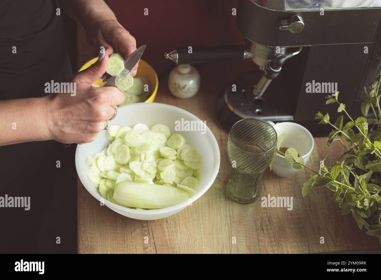
<path id="1" fill-rule="evenodd" d="M 191 98 L 199 91 L 200 74 L 189 64 L 176 66 L 169 74 L 168 87 L 178 98 Z"/>

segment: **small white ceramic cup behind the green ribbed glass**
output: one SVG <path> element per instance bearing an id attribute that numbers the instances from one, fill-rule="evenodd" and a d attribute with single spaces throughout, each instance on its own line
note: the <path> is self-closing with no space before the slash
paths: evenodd
<path id="1" fill-rule="evenodd" d="M 282 123 L 273 123 L 268 122 L 274 126 L 275 131 L 279 137 L 280 134 L 285 134 L 285 139 L 280 145 L 280 147 L 293 147 L 295 148 L 299 155 L 304 160 L 304 165 L 309 160 L 309 157 L 314 149 L 314 138 L 312 134 L 302 125 L 298 123 L 291 122 L 282 122 Z M 272 164 L 272 172 L 277 174 L 279 177 L 288 177 L 296 172 L 295 168 L 292 167 L 292 164 L 287 162 L 283 155 L 277 154 Z"/>

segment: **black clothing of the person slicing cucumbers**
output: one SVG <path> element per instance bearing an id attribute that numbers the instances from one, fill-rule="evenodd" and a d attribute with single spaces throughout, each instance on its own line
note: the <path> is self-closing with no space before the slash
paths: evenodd
<path id="1" fill-rule="evenodd" d="M 44 96 L 46 82 L 70 77 L 58 8 L 56 0 L 0 1 L 0 99 Z M 29 211 L 0 208 L 0 253 L 76 252 L 74 150 L 55 141 L 0 147 L 0 197 L 30 197 Z"/>

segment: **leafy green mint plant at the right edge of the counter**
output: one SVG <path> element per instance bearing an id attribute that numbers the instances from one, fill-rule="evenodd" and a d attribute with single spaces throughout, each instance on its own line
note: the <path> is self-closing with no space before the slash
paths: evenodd
<path id="1" fill-rule="evenodd" d="M 369 110 L 372 110 L 374 118 L 351 118 L 345 104 L 338 100 L 339 92 L 335 96 L 326 97 L 326 104 L 336 104 L 337 111 L 344 113 L 335 123 L 330 121 L 328 113 L 316 114 L 315 119 L 320 120 L 319 123 L 333 128 L 328 135 L 328 146 L 334 141 L 339 141 L 343 146 L 343 155 L 336 160 L 335 166 L 328 167 L 324 164 L 328 154 L 320 161 L 318 171 L 304 165 L 303 158 L 298 157 L 298 152 L 292 147 L 283 154 L 279 147 L 284 135 L 279 136 L 277 145 L 277 152 L 283 154 L 293 164 L 293 168 L 312 171 L 311 177 L 303 184 L 303 197 L 313 188 L 327 187 L 333 192 L 331 199 L 338 203 L 341 214 L 351 213 L 360 229 L 365 219 L 372 228 L 366 234 L 372 236 L 381 235 L 381 71 L 377 78 L 379 80 L 370 86 L 369 92 L 364 87 L 366 98 L 361 104 L 362 114 L 366 117 Z M 345 125 L 344 115 L 349 119 Z"/>

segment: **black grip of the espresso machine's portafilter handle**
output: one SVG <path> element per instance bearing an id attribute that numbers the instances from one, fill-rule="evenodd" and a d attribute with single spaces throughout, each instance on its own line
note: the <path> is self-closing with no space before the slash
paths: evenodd
<path id="1" fill-rule="evenodd" d="M 243 60 L 245 50 L 242 45 L 235 46 L 200 46 L 180 47 L 176 49 L 178 53 L 177 64 L 197 64 L 205 62 L 215 62 L 224 60 Z"/>

